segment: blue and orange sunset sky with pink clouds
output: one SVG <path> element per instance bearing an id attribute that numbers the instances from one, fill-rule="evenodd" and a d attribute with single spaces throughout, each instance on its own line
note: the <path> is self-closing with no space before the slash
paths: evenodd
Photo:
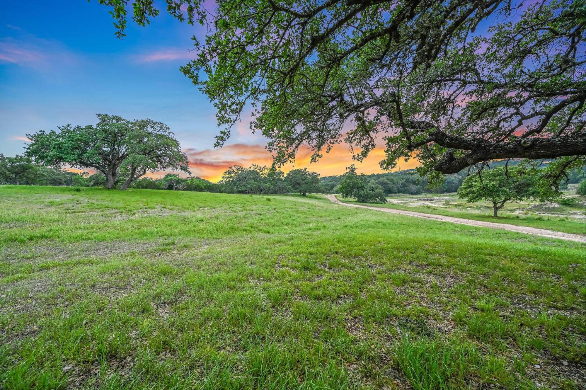
<path id="1" fill-rule="evenodd" d="M 162 10 L 147 28 L 129 22 L 120 40 L 108 8 L 97 1 L 58 4 L 33 0 L 25 8 L 4 2 L 0 9 L 0 153 L 21 154 L 26 134 L 95 124 L 96 114 L 113 114 L 169 125 L 194 176 L 217 181 L 232 165 L 271 164 L 267 139 L 251 134 L 246 118 L 223 148 L 213 148 L 220 130 L 214 107 L 179 71 L 195 55 L 190 38 L 202 37 L 205 28 L 179 23 Z M 309 155 L 301 150 L 283 170 L 307 167 L 340 175 L 355 163 L 347 145 L 318 163 L 310 164 Z M 359 172 L 382 172 L 382 158 L 380 147 L 356 165 Z"/>

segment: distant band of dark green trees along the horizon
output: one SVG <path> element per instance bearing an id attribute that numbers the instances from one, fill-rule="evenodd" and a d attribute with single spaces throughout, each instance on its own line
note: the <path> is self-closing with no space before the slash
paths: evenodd
<path id="1" fill-rule="evenodd" d="M 539 177 L 539 171 L 515 170 L 515 166 L 522 164 L 521 160 L 495 161 L 490 162 L 485 174 L 472 179 L 467 179 L 468 172 L 446 175 L 444 182 L 438 187 L 430 186 L 427 177 L 419 176 L 411 169 L 400 172 L 374 173 L 372 175 L 357 174 L 356 167 L 350 166 L 344 175 L 320 177 L 319 173 L 307 169 L 294 169 L 287 174 L 278 169 L 270 169 L 267 166 L 253 165 L 250 167 L 233 166 L 224 172 L 218 183 L 202 179 L 202 177 L 189 176 L 181 177 L 176 173 L 167 173 L 164 177 L 154 179 L 152 177 L 139 177 L 132 180 L 129 188 L 156 189 L 156 190 L 185 190 L 185 191 L 206 191 L 213 193 L 241 193 L 241 194 L 285 194 L 294 193 L 305 195 L 306 193 L 340 193 L 345 197 L 353 197 L 361 202 L 384 203 L 386 196 L 392 194 L 422 193 L 454 193 L 464 194 L 462 184 L 465 186 L 466 197 L 470 201 L 481 200 L 488 196 L 496 203 L 503 200 L 538 199 L 534 191 L 540 183 L 539 180 L 523 179 L 522 182 L 531 182 L 532 186 L 518 186 L 516 176 L 512 173 L 524 172 L 524 175 L 535 175 Z M 509 167 L 505 177 L 504 171 L 497 168 Z M 538 167 L 539 168 L 539 167 Z M 497 169 L 497 170 L 495 170 Z M 504 168 L 503 168 L 504 169 Z M 498 173 L 498 175 L 497 175 Z M 126 170 L 117 172 L 114 175 L 113 187 L 121 187 L 128 182 L 130 173 Z M 484 175 L 484 176 L 482 176 Z M 503 196 L 486 191 L 484 183 L 479 180 L 485 177 L 485 182 L 504 180 L 499 186 L 494 187 L 509 192 Z M 580 183 L 584 180 L 584 170 L 574 169 L 568 172 L 567 177 L 558 184 L 559 189 L 567 188 L 568 183 Z M 107 187 L 107 177 L 103 172 L 90 174 L 88 172 L 75 173 L 64 169 L 62 166 L 45 166 L 33 161 L 30 156 L 16 155 L 5 157 L 0 155 L 0 183 L 2 184 L 28 184 L 41 186 L 77 186 L 77 187 Z M 523 189 L 523 191 L 520 191 Z M 489 193 L 489 195 L 486 195 Z M 541 191 L 543 193 L 543 191 Z M 497 198 L 500 200 L 496 200 Z M 551 196 L 541 199 L 551 199 Z"/>

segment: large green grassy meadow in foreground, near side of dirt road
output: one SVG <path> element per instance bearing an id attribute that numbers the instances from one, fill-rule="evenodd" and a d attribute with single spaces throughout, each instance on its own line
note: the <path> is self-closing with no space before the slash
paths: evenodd
<path id="1" fill-rule="evenodd" d="M 0 187 L 5 389 L 586 386 L 585 246 L 297 196 Z"/>

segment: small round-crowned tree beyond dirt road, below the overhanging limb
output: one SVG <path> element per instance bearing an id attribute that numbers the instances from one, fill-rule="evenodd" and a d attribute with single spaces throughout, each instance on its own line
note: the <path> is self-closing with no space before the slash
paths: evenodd
<path id="1" fill-rule="evenodd" d="M 466 177 L 458 189 L 458 197 L 469 202 L 492 202 L 495 217 L 498 217 L 499 210 L 507 201 L 545 200 L 543 191 L 540 192 L 537 175 L 527 175 L 519 168 L 509 168 L 507 172 L 502 166 L 484 169 L 476 175 Z"/>

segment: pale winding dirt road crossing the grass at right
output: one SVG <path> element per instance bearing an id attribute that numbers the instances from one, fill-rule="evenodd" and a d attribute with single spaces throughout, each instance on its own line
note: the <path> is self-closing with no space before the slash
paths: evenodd
<path id="1" fill-rule="evenodd" d="M 546 230 L 546 229 L 537 229 L 537 228 L 532 228 L 532 227 L 527 227 L 527 226 L 499 224 L 496 222 L 466 220 L 465 218 L 447 217 L 446 215 L 437 215 L 437 214 L 417 213 L 415 211 L 395 210 L 394 208 L 362 206 L 361 204 L 351 204 L 351 203 L 340 202 L 338 199 L 336 199 L 335 195 L 328 195 L 327 197 L 329 200 L 333 201 L 333 203 L 338 203 L 338 204 L 341 204 L 342 206 L 370 208 L 371 210 L 384 211 L 385 213 L 409 215 L 410 217 L 418 217 L 418 218 L 426 218 L 428 220 L 451 222 L 453 224 L 462 224 L 462 225 L 480 226 L 480 227 L 488 227 L 488 228 L 493 228 L 493 229 L 503 229 L 503 230 L 509 230 L 509 231 L 516 231 L 516 232 L 525 233 L 525 234 L 540 235 L 541 237 L 559 238 L 560 240 L 569 240 L 569 241 L 577 241 L 577 242 L 585 242 L 586 241 L 586 237 L 579 235 L 579 234 L 563 233 L 563 232 L 551 231 L 551 230 Z"/>

